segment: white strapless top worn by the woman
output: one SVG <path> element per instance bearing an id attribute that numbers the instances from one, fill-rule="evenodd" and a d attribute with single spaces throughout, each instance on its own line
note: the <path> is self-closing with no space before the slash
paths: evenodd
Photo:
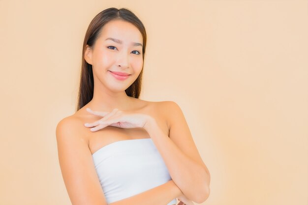
<path id="1" fill-rule="evenodd" d="M 92 154 L 108 204 L 140 194 L 171 180 L 152 138 L 121 140 Z M 176 204 L 176 198 L 167 205 Z"/>

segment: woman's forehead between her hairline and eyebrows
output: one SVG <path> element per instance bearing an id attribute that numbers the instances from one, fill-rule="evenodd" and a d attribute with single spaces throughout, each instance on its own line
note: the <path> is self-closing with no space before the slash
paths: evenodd
<path id="1" fill-rule="evenodd" d="M 108 37 L 120 39 L 124 44 L 142 43 L 142 35 L 139 29 L 123 20 L 112 20 L 103 26 L 100 40 L 105 41 Z"/>

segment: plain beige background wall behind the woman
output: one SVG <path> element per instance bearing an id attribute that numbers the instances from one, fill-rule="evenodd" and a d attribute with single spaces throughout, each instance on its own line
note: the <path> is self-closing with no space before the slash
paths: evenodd
<path id="1" fill-rule="evenodd" d="M 108 7 L 147 29 L 140 98 L 182 108 L 212 176 L 203 205 L 308 204 L 307 0 L 0 0 L 0 205 L 70 205 L 55 128 Z"/>

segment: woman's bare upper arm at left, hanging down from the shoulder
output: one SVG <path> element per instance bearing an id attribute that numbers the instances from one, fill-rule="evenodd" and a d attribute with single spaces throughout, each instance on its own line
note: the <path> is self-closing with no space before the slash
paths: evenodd
<path id="1" fill-rule="evenodd" d="M 56 128 L 62 177 L 73 205 L 107 205 L 92 161 L 88 142 L 80 132 L 80 119 L 65 117 Z"/>

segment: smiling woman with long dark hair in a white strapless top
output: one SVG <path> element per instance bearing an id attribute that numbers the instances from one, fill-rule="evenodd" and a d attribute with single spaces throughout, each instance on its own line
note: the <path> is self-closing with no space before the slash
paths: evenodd
<path id="1" fill-rule="evenodd" d="M 125 8 L 101 11 L 87 29 L 77 111 L 56 129 L 73 205 L 192 205 L 209 196 L 210 174 L 180 107 L 138 98 L 146 42 Z"/>

